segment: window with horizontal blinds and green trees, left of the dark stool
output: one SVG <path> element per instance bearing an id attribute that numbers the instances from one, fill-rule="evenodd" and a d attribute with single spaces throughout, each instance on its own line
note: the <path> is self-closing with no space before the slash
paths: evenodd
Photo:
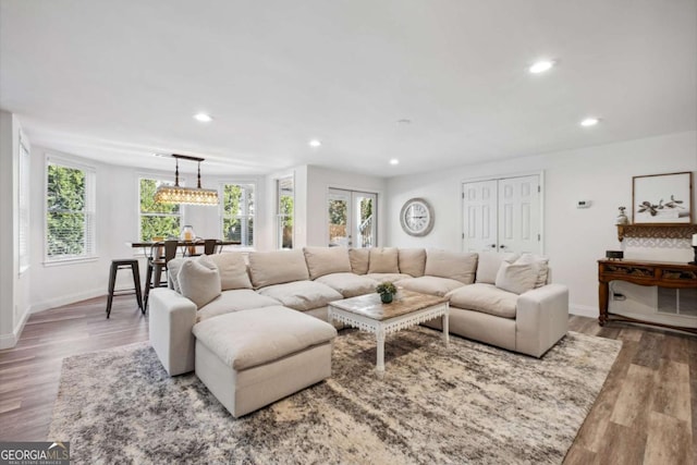
<path id="1" fill-rule="evenodd" d="M 94 205 L 94 168 L 49 157 L 46 164 L 46 261 L 95 256 Z"/>

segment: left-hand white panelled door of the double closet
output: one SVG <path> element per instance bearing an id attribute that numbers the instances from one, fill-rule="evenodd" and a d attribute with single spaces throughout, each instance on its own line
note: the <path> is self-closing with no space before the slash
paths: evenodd
<path id="1" fill-rule="evenodd" d="M 464 249 L 496 250 L 497 181 L 463 184 Z"/>

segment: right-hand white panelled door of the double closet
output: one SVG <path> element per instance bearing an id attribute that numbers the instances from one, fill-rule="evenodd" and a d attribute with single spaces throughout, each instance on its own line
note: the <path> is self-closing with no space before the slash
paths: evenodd
<path id="1" fill-rule="evenodd" d="M 499 180 L 499 250 L 540 253 L 539 176 Z"/>

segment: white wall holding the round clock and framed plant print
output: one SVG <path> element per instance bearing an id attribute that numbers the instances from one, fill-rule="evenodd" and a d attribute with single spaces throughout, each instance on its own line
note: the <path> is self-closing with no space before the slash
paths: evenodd
<path id="1" fill-rule="evenodd" d="M 571 311 L 597 316 L 597 259 L 604 257 L 607 249 L 620 247 L 614 219 L 620 206 L 631 211 L 632 176 L 697 171 L 697 132 L 390 179 L 388 243 L 460 250 L 462 183 L 539 171 L 545 172 L 543 246 L 553 280 L 568 285 Z M 436 223 L 426 237 L 408 236 L 400 228 L 399 211 L 411 197 L 424 197 L 433 206 Z M 693 189 L 693 205 L 697 205 L 697 189 Z M 591 200 L 591 208 L 577 209 L 576 201 L 582 199 Z M 641 256 L 686 262 L 693 257 L 688 245 L 686 240 L 680 249 L 644 249 Z M 633 253 L 627 249 L 626 256 L 632 257 Z"/>

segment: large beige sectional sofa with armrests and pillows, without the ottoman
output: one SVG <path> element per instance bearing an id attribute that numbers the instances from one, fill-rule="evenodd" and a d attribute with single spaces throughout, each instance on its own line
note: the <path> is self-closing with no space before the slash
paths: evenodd
<path id="1" fill-rule="evenodd" d="M 170 287 L 150 294 L 150 343 L 171 375 L 195 365 L 194 327 L 240 310 L 283 306 L 327 320 L 330 302 L 379 282 L 450 299 L 450 332 L 540 357 L 567 330 L 568 291 L 547 260 L 423 248 L 306 247 L 175 259 Z M 210 323 L 209 323 L 210 325 Z M 439 329 L 439 323 L 431 325 Z"/>

